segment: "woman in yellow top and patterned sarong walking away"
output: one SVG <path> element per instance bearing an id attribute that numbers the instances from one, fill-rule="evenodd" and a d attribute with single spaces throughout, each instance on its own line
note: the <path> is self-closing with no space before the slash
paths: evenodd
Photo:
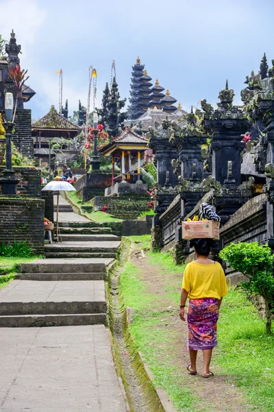
<path id="1" fill-rule="evenodd" d="M 217 321 L 223 296 L 227 295 L 225 273 L 219 262 L 208 259 L 212 239 L 193 239 L 197 260 L 184 271 L 179 317 L 186 321 L 184 308 L 188 303 L 188 350 L 190 375 L 197 375 L 197 350 L 203 351 L 203 378 L 213 376 L 210 371 L 212 349 L 217 345 Z"/>

